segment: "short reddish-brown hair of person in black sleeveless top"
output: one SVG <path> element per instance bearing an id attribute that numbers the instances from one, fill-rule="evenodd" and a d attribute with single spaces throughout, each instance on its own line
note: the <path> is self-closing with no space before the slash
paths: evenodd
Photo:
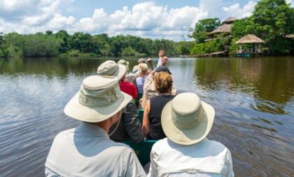
<path id="1" fill-rule="evenodd" d="M 160 72 L 154 78 L 155 89 L 159 94 L 168 93 L 172 83 L 172 75 L 167 72 Z"/>

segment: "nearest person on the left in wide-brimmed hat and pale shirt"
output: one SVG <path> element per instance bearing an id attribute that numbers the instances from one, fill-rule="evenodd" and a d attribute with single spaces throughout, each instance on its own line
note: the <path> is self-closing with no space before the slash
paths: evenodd
<path id="1" fill-rule="evenodd" d="M 45 162 L 46 176 L 146 176 L 129 146 L 109 139 L 111 125 L 132 97 L 115 76 L 90 76 L 66 104 L 64 113 L 82 121 L 55 136 Z"/>

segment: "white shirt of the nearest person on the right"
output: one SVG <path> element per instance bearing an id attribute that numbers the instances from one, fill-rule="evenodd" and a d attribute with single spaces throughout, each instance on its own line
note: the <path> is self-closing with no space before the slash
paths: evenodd
<path id="1" fill-rule="evenodd" d="M 165 138 L 153 145 L 148 176 L 232 177 L 230 150 L 222 143 L 203 139 L 183 146 Z"/>

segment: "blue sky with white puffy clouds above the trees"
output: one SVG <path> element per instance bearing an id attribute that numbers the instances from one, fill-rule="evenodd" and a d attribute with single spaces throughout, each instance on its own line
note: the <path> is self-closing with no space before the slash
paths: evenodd
<path id="1" fill-rule="evenodd" d="M 179 41 L 198 20 L 247 17 L 258 0 L 0 0 L 0 32 L 118 34 Z M 294 4 L 294 0 L 286 0 Z M 293 5 L 292 5 L 293 6 Z"/>

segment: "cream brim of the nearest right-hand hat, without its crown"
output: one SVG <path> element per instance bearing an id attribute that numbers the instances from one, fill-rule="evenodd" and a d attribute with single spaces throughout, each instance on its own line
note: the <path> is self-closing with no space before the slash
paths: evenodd
<path id="1" fill-rule="evenodd" d="M 191 145 L 202 141 L 202 139 L 209 134 L 212 124 L 214 123 L 215 111 L 211 105 L 205 103 L 204 101 L 201 102 L 204 108 L 204 119 L 199 125 L 193 127 L 192 129 L 179 129 L 176 127 L 172 120 L 172 101 L 169 101 L 165 105 L 165 108 L 162 110 L 161 123 L 162 129 L 167 138 L 174 141 L 174 143 Z"/>

